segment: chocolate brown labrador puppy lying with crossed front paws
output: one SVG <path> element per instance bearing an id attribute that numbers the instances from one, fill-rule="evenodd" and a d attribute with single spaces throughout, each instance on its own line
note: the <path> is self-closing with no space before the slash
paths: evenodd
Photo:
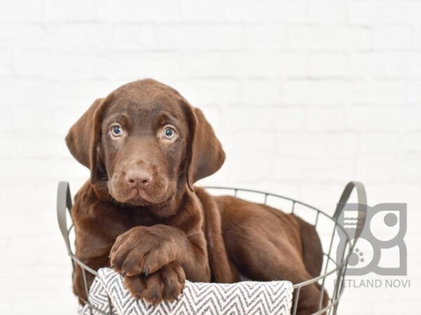
<path id="1" fill-rule="evenodd" d="M 319 275 L 322 251 L 312 225 L 194 186 L 220 169 L 225 153 L 203 113 L 168 85 L 139 80 L 97 99 L 66 141 L 91 169 L 72 209 L 76 257 L 93 269 L 114 267 L 133 296 L 174 300 L 185 279 L 297 283 Z M 81 303 L 83 283 L 76 267 Z M 302 288 L 298 314 L 316 311 L 319 296 L 316 285 Z M 327 299 L 325 293 L 323 304 Z"/>

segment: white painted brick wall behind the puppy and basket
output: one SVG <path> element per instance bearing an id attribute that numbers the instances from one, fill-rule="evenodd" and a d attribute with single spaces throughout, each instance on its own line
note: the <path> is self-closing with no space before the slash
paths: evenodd
<path id="1" fill-rule="evenodd" d="M 417 314 L 421 1 L 0 1 L 2 314 L 75 314 L 55 219 L 59 180 L 88 178 L 70 125 L 130 80 L 173 85 L 215 127 L 216 185 L 332 212 L 349 180 L 408 202 L 410 289 L 349 289 L 341 314 Z M 42 311 L 41 311 L 42 310 Z"/>

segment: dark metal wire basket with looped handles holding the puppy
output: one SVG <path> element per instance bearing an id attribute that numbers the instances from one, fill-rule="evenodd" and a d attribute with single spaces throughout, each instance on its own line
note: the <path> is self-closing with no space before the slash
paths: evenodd
<path id="1" fill-rule="evenodd" d="M 345 206 L 348 202 L 349 196 L 352 193 L 352 190 L 355 188 L 356 195 L 358 199 L 357 210 L 358 210 L 358 225 L 353 230 L 353 235 L 350 234 L 350 230 L 345 228 L 343 224 L 338 222 L 338 218 L 344 211 Z M 294 200 L 293 198 L 284 197 L 281 195 L 276 195 L 272 193 L 265 193 L 258 190 L 250 189 L 241 189 L 241 188 L 229 188 L 229 187 L 207 187 L 207 190 L 210 190 L 215 195 L 234 195 L 236 197 L 241 197 L 245 200 L 250 200 L 252 202 L 260 202 L 267 204 L 271 207 L 276 207 L 278 209 L 290 209 L 290 213 L 297 214 L 301 218 L 305 219 L 307 222 L 312 223 L 319 232 L 321 238 L 321 243 L 323 247 L 323 267 L 322 273 L 320 276 L 317 276 L 313 279 L 303 281 L 300 283 L 294 283 L 294 300 L 291 314 L 295 315 L 298 307 L 298 297 L 300 296 L 300 290 L 304 286 L 309 286 L 312 283 L 318 283 L 321 290 L 319 296 L 319 310 L 316 311 L 313 315 L 316 314 L 337 314 L 338 304 L 340 297 L 342 297 L 344 291 L 345 283 L 345 272 L 347 269 L 349 255 L 354 251 L 354 246 L 366 221 L 366 190 L 362 183 L 359 182 L 349 182 L 343 193 L 340 197 L 340 200 L 335 209 L 333 216 L 329 216 L 326 212 L 312 207 L 305 202 L 300 202 Z M 72 230 L 74 230 L 74 225 L 70 223 L 67 225 L 67 211 L 69 211 L 70 220 L 72 220 L 72 196 L 69 190 L 68 182 L 60 182 L 58 184 L 58 199 L 57 199 L 57 212 L 58 212 L 58 223 L 62 236 L 65 239 L 65 244 L 67 247 L 67 253 L 70 258 L 72 258 L 72 267 L 74 269 L 75 265 L 79 265 L 83 274 L 83 281 L 85 284 L 86 296 L 88 297 L 88 285 L 86 281 L 86 272 L 97 276 L 98 273 L 85 265 L 81 260 L 79 260 L 72 250 L 70 243 L 70 235 L 72 235 Z M 312 218 L 312 220 L 310 220 Z M 324 221 L 321 223 L 321 221 Z M 340 239 L 342 237 L 342 239 Z M 335 251 L 336 248 L 336 251 Z M 323 292 L 324 290 L 328 291 L 329 299 L 326 306 L 322 306 L 323 301 Z M 96 314 L 114 314 L 112 311 L 112 303 L 110 298 L 109 301 L 109 313 L 105 313 L 100 309 L 95 308 L 89 301 L 83 301 L 91 309 L 91 314 L 95 311 Z"/>

